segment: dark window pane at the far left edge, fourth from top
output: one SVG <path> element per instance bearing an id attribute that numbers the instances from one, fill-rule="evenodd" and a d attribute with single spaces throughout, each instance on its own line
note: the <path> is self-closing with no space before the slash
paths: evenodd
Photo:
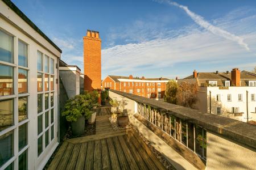
<path id="1" fill-rule="evenodd" d="M 0 137 L 0 167 L 14 156 L 14 131 L 10 131 Z"/>

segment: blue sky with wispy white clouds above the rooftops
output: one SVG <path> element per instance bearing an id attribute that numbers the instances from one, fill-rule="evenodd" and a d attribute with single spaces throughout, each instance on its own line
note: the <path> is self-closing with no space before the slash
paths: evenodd
<path id="1" fill-rule="evenodd" d="M 100 32 L 106 75 L 184 78 L 256 66 L 256 1 L 13 0 L 84 73 L 82 37 Z"/>

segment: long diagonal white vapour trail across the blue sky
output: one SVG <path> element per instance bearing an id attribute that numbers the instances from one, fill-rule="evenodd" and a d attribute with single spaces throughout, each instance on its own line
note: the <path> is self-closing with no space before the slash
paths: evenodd
<path id="1" fill-rule="evenodd" d="M 160 2 L 162 2 L 162 1 L 160 1 Z M 171 1 L 168 1 L 168 0 L 166 0 L 164 2 L 168 3 L 169 5 L 173 5 L 173 6 L 177 6 L 177 7 L 181 8 L 182 10 L 184 10 L 188 14 L 188 16 L 191 17 L 191 19 L 193 19 L 193 21 L 195 23 L 197 23 L 201 27 L 207 29 L 208 31 L 212 32 L 214 35 L 221 36 L 221 37 L 224 37 L 225 39 L 237 42 L 239 45 L 241 45 L 247 51 L 250 51 L 250 48 L 248 47 L 248 44 L 246 44 L 244 42 L 242 37 L 236 36 L 236 35 L 228 32 L 228 31 L 225 31 L 224 29 L 221 29 L 219 27 L 216 27 L 216 26 L 210 24 L 202 16 L 197 15 L 197 14 L 195 14 L 195 12 L 192 12 L 191 10 L 189 10 L 187 6 L 183 6 L 183 5 L 180 5 L 179 3 L 171 2 Z"/>

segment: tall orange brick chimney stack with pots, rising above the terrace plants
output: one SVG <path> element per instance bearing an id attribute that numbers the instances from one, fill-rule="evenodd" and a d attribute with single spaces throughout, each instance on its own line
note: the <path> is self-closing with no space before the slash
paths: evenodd
<path id="1" fill-rule="evenodd" d="M 101 89 L 101 39 L 98 31 L 84 37 L 84 90 Z"/>

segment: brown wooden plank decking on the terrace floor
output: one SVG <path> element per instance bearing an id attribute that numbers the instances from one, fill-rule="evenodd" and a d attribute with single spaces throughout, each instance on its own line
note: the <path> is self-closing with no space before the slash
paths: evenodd
<path id="1" fill-rule="evenodd" d="M 96 135 L 64 141 L 48 169 L 164 169 L 135 131 L 114 131 L 109 117 L 96 116 Z"/>

